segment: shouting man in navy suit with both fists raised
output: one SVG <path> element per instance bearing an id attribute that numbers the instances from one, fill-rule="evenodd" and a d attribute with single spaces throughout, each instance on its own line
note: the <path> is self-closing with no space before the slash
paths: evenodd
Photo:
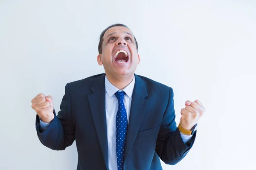
<path id="1" fill-rule="evenodd" d="M 162 170 L 160 159 L 183 159 L 205 112 L 201 102 L 185 102 L 177 127 L 172 88 L 134 74 L 138 43 L 125 25 L 102 32 L 97 62 L 105 74 L 67 83 L 58 116 L 52 96 L 32 99 L 41 143 L 64 150 L 76 140 L 77 170 Z"/>

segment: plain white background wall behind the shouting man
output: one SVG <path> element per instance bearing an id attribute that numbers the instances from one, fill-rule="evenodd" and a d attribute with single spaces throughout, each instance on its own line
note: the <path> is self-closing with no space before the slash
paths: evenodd
<path id="1" fill-rule="evenodd" d="M 256 1 L 0 0 L 0 169 L 75 170 L 75 143 L 44 147 L 31 99 L 52 95 L 59 111 L 67 82 L 104 72 L 103 29 L 131 28 L 136 74 L 174 89 L 177 122 L 186 100 L 207 112 L 194 147 L 164 170 L 255 170 Z"/>

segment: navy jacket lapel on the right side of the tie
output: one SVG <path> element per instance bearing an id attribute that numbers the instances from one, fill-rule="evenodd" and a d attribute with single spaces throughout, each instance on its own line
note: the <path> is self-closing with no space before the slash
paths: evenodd
<path id="1" fill-rule="evenodd" d="M 124 162 L 131 150 L 132 145 L 134 144 L 135 138 L 145 115 L 145 111 L 148 106 L 148 100 L 145 99 L 146 96 L 148 96 L 148 94 L 143 80 L 135 75 L 135 85 L 131 100 L 129 125 L 126 134 Z"/>

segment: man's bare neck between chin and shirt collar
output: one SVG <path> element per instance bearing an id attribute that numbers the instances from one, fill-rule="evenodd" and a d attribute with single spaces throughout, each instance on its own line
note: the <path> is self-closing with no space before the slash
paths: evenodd
<path id="1" fill-rule="evenodd" d="M 122 90 L 131 83 L 131 81 L 134 77 L 134 74 L 129 75 L 129 76 L 127 75 L 127 76 L 113 77 L 110 74 L 106 73 L 106 76 L 107 76 L 108 81 L 111 82 L 112 85 L 114 85 L 119 90 Z"/>

